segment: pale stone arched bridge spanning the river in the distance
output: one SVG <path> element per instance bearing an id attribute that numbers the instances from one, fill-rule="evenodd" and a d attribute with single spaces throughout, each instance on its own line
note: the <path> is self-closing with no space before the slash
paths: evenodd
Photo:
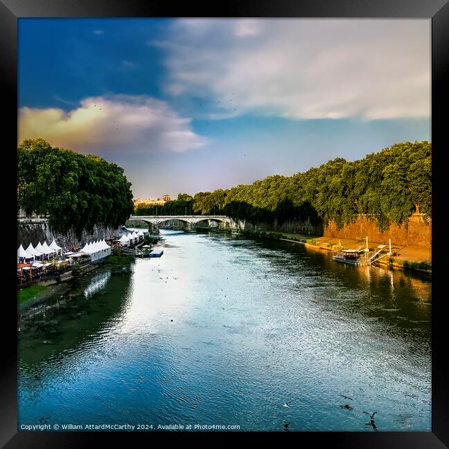
<path id="1" fill-rule="evenodd" d="M 211 216 L 198 216 L 198 215 L 173 215 L 173 216 L 131 216 L 129 220 L 143 221 L 149 224 L 150 232 L 159 232 L 159 227 L 164 223 L 178 220 L 184 223 L 184 229 L 191 231 L 198 226 L 211 227 L 212 222 L 216 222 L 220 229 L 238 229 L 238 224 L 225 215 L 211 215 Z"/>

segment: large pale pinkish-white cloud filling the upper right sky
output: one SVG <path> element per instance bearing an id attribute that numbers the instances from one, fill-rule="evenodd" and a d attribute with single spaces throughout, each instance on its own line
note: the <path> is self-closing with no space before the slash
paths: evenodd
<path id="1" fill-rule="evenodd" d="M 238 114 L 430 117 L 428 20 L 180 19 L 149 44 L 166 52 L 167 93 Z"/>

